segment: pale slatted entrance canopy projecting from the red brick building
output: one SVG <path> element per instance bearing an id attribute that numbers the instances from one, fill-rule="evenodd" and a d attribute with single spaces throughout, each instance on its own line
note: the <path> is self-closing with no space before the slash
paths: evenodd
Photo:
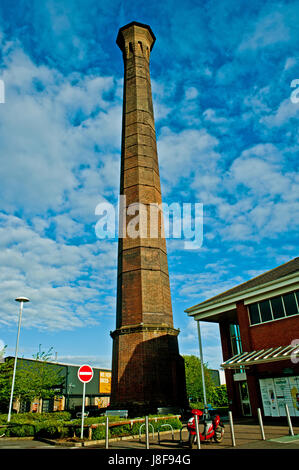
<path id="1" fill-rule="evenodd" d="M 221 364 L 223 369 L 239 369 L 267 362 L 293 360 L 299 362 L 299 342 L 296 346 L 278 346 L 277 348 L 260 349 L 259 351 L 244 352 L 236 354 Z"/>

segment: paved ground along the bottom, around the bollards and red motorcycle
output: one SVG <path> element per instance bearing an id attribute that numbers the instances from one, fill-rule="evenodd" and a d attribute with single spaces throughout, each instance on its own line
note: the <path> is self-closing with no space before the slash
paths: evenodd
<path id="1" fill-rule="evenodd" d="M 235 424 L 235 441 L 236 447 L 232 446 L 232 439 L 230 433 L 230 426 L 228 423 L 225 425 L 224 439 L 220 444 L 216 444 L 214 441 L 202 443 L 201 450 L 212 450 L 212 449 L 297 449 L 299 450 L 299 426 L 294 426 L 294 434 L 296 438 L 288 440 L 288 442 L 274 442 L 272 439 L 280 437 L 287 437 L 289 430 L 287 426 L 278 425 L 265 425 L 265 437 L 266 441 L 261 439 L 260 428 L 256 424 Z M 158 443 L 157 435 L 154 438 L 150 434 L 150 449 L 159 450 L 189 450 L 187 440 L 188 432 L 186 429 L 182 432 L 182 445 L 180 444 L 180 433 L 175 432 L 174 440 L 172 440 L 171 433 L 161 434 L 161 443 Z M 88 450 L 88 449 L 104 449 L 104 444 L 96 444 L 84 448 L 73 447 L 74 449 Z M 22 439 L 22 438 L 0 438 L 0 449 L 70 449 L 70 447 L 53 446 L 44 442 L 35 440 Z M 145 439 L 142 436 L 141 442 L 138 438 L 114 441 L 109 443 L 109 449 L 145 449 Z"/>

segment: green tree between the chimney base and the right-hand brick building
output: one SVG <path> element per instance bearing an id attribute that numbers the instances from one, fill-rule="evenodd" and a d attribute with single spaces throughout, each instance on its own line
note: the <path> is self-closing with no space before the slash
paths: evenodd
<path id="1" fill-rule="evenodd" d="M 203 386 L 202 386 L 202 373 L 200 359 L 197 356 L 183 356 L 185 361 L 186 371 L 186 388 L 188 398 L 192 401 L 204 401 Z M 204 364 L 204 376 L 206 385 L 207 402 L 211 403 L 214 384 L 210 377 L 208 368 Z"/>

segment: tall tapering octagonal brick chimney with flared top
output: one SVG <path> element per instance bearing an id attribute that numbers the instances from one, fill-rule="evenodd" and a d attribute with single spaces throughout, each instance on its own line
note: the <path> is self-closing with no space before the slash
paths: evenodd
<path id="1" fill-rule="evenodd" d="M 124 60 L 120 194 L 126 208 L 143 204 L 149 214 L 150 204 L 162 202 L 149 72 L 155 36 L 149 26 L 132 22 L 119 30 L 116 42 Z M 126 227 L 130 221 L 126 212 Z M 149 236 L 149 224 L 135 238 L 119 238 L 110 406 L 129 409 L 131 416 L 186 405 L 162 224 L 160 219 L 156 238 Z"/>

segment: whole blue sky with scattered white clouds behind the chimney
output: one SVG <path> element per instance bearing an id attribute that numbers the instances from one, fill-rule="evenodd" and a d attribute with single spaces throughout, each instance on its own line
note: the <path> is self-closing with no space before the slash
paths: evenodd
<path id="1" fill-rule="evenodd" d="M 203 245 L 168 240 L 174 324 L 184 309 L 298 255 L 298 3 L 3 0 L 0 6 L 0 344 L 110 367 L 116 240 L 95 207 L 119 192 L 123 63 L 118 29 L 157 37 L 151 78 L 164 202 L 204 205 Z M 218 327 L 202 324 L 218 368 Z"/>

